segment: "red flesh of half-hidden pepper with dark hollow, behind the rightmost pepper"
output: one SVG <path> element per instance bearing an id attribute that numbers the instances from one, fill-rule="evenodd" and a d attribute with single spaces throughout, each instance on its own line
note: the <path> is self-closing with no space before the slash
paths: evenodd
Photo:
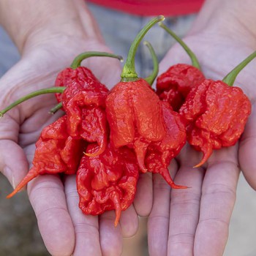
<path id="1" fill-rule="evenodd" d="M 168 102 L 173 110 L 178 110 L 192 88 L 200 85 L 206 78 L 197 67 L 189 64 L 176 64 L 157 78 L 157 94 Z"/>

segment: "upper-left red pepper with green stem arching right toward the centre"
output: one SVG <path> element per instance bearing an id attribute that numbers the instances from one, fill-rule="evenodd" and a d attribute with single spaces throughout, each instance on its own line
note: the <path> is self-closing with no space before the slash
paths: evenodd
<path id="1" fill-rule="evenodd" d="M 62 94 L 67 127 L 72 138 L 97 142 L 101 154 L 107 143 L 107 119 L 105 99 L 108 88 L 99 82 L 90 69 L 80 67 L 81 61 L 91 56 L 108 56 L 121 59 L 110 53 L 88 52 L 77 56 L 71 67 L 64 69 L 56 78 L 56 86 L 67 86 Z M 57 99 L 59 94 L 56 95 Z"/>

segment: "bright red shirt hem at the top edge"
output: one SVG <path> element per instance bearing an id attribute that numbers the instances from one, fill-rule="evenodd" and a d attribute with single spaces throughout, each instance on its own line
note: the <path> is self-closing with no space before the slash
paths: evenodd
<path id="1" fill-rule="evenodd" d="M 89 0 L 133 15 L 187 15 L 198 12 L 204 0 Z"/>

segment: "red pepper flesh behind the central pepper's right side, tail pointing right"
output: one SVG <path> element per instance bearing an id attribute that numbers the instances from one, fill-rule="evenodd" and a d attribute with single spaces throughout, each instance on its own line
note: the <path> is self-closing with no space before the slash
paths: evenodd
<path id="1" fill-rule="evenodd" d="M 181 116 L 172 110 L 167 102 L 162 102 L 162 112 L 167 127 L 165 138 L 159 142 L 153 142 L 148 146 L 146 154 L 146 167 L 151 173 L 159 173 L 165 178 L 167 184 L 173 189 L 185 189 L 186 186 L 176 185 L 170 177 L 168 166 L 170 161 L 178 155 L 185 145 L 186 128 L 181 121 Z"/>

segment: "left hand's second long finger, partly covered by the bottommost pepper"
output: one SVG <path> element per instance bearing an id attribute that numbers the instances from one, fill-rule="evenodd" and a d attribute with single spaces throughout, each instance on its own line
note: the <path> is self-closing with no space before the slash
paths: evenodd
<path id="1" fill-rule="evenodd" d="M 73 256 L 101 255 L 98 217 L 83 214 L 78 207 L 79 196 L 75 176 L 67 176 L 65 179 L 65 193 L 67 207 L 75 228 L 75 250 Z"/>

